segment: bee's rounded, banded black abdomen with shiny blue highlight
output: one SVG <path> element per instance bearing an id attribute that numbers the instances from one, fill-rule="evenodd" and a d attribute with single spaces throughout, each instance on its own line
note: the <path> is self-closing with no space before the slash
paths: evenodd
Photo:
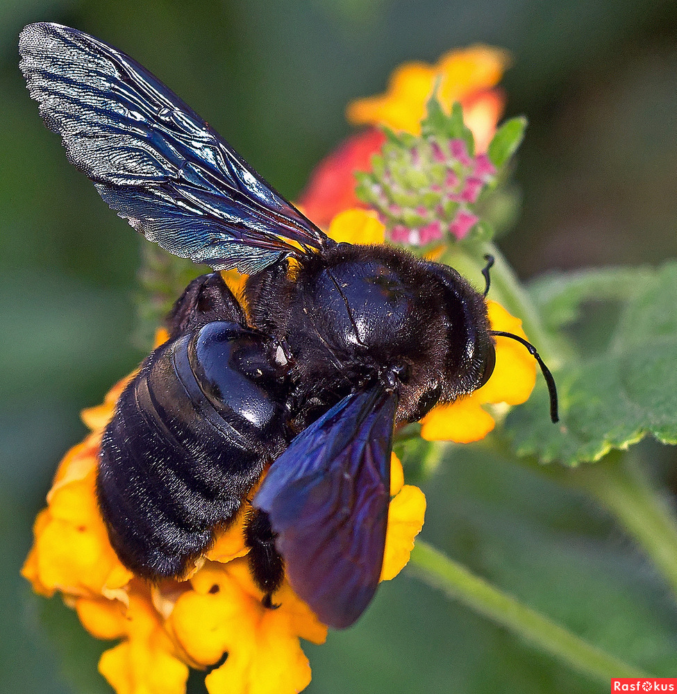
<path id="1" fill-rule="evenodd" d="M 280 400 L 242 373 L 242 350 L 278 369 L 260 335 L 209 323 L 153 352 L 119 398 L 98 493 L 112 545 L 135 573 L 181 575 L 285 447 Z"/>

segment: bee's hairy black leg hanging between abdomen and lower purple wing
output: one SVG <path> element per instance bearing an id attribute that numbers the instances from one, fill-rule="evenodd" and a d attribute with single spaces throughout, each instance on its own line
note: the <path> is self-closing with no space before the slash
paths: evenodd
<path id="1" fill-rule="evenodd" d="M 283 559 L 275 549 L 275 534 L 268 514 L 252 509 L 244 525 L 244 544 L 249 547 L 249 568 L 254 581 L 265 593 L 263 605 L 268 609 L 280 607 L 272 601 L 285 575 Z"/>

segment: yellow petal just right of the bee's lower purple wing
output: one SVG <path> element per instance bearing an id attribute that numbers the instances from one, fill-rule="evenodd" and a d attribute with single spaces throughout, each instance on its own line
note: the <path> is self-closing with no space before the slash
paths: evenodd
<path id="1" fill-rule="evenodd" d="M 417 487 L 406 484 L 390 502 L 388 529 L 381 580 L 390 581 L 406 566 L 421 532 L 426 514 L 426 497 Z"/>

